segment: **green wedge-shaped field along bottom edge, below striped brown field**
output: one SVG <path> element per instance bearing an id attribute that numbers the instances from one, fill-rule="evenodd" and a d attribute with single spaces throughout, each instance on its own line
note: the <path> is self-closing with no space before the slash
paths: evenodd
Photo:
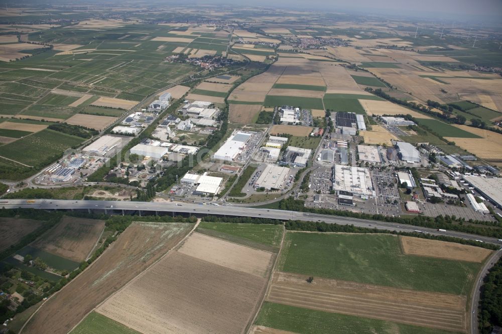
<path id="1" fill-rule="evenodd" d="M 264 302 L 256 325 L 303 334 L 400 333 L 447 334 L 433 328 L 413 326 L 354 315 L 323 312 L 308 308 Z"/>

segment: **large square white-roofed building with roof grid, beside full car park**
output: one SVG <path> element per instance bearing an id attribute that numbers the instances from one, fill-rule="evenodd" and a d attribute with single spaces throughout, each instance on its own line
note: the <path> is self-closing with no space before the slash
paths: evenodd
<path id="1" fill-rule="evenodd" d="M 375 196 L 369 169 L 342 166 L 333 166 L 333 190 L 344 191 L 361 196 Z"/>

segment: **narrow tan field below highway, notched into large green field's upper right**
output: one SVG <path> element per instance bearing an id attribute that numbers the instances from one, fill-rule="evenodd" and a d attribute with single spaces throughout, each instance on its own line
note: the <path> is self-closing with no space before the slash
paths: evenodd
<path id="1" fill-rule="evenodd" d="M 400 237 L 405 254 L 431 256 L 449 260 L 481 263 L 492 253 L 491 250 L 454 242 Z"/>

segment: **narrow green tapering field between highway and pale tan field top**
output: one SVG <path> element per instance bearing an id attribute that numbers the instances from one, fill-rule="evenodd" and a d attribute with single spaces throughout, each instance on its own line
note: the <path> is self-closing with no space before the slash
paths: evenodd
<path id="1" fill-rule="evenodd" d="M 281 244 L 283 226 L 265 224 L 235 224 L 201 222 L 197 229 L 211 230 L 229 234 L 254 242 L 279 247 Z"/>

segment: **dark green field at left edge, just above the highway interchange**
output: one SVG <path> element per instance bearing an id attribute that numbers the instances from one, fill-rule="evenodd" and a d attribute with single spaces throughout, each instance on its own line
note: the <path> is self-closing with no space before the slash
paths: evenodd
<path id="1" fill-rule="evenodd" d="M 82 141 L 80 137 L 45 129 L 0 146 L 0 155 L 32 166 L 48 164 Z"/>

